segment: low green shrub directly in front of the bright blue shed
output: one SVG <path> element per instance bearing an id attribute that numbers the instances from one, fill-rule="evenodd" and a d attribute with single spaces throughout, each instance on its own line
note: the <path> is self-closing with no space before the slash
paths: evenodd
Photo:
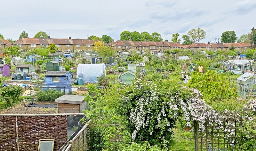
<path id="1" fill-rule="evenodd" d="M 38 101 L 54 101 L 56 98 L 61 97 L 62 95 L 63 93 L 61 93 L 60 90 L 56 91 L 53 89 L 48 89 L 45 92 L 40 91 L 36 94 Z"/>

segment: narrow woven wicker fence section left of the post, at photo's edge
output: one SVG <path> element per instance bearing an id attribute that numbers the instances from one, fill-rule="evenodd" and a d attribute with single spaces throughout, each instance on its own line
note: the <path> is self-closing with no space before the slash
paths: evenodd
<path id="1" fill-rule="evenodd" d="M 0 146 L 16 139 L 15 116 L 0 116 Z M 13 141 L 0 148 L 1 151 L 17 150 L 17 143 Z"/>

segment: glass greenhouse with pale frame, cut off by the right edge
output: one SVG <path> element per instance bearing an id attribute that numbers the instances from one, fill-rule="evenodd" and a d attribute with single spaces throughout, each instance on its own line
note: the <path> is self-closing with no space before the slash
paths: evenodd
<path id="1" fill-rule="evenodd" d="M 254 73 L 244 73 L 236 79 L 236 89 L 238 96 L 248 98 L 249 96 L 256 97 L 256 75 Z"/>

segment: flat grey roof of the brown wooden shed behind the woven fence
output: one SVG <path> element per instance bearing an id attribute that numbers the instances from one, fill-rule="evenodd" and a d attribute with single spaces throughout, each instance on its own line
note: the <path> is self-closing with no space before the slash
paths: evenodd
<path id="1" fill-rule="evenodd" d="M 56 103 L 68 103 L 68 104 L 82 104 L 84 102 L 84 96 L 68 95 L 65 94 L 55 99 Z"/>

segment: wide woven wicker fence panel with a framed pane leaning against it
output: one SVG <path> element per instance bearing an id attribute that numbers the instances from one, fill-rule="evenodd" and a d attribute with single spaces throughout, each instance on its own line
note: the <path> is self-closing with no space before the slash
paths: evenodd
<path id="1" fill-rule="evenodd" d="M 54 151 L 58 151 L 67 140 L 67 117 L 60 116 L 19 116 L 19 137 L 29 133 L 43 124 L 50 123 L 36 129 L 32 133 L 19 139 L 20 151 L 35 151 L 38 149 L 39 139 L 55 139 Z"/>

